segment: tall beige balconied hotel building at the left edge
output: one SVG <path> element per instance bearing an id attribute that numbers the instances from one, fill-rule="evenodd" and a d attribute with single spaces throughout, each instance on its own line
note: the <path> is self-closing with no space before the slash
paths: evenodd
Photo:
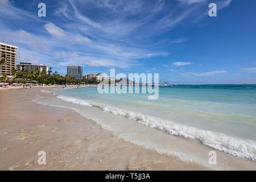
<path id="1" fill-rule="evenodd" d="M 6 64 L 0 65 L 0 76 L 11 76 L 11 71 L 16 68 L 16 54 L 18 47 L 0 42 L 0 57 L 6 56 Z"/>

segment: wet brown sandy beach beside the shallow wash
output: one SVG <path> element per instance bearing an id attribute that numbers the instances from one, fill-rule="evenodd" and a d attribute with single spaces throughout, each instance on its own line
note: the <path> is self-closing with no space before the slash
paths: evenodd
<path id="1" fill-rule="evenodd" d="M 118 139 L 75 111 L 32 102 L 47 94 L 40 90 L 0 92 L 1 170 L 207 169 Z M 39 151 L 46 165 L 38 164 Z"/>

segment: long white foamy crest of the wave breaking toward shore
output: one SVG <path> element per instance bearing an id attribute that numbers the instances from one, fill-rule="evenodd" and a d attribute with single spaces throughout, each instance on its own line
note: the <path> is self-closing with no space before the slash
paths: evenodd
<path id="1" fill-rule="evenodd" d="M 57 96 L 57 98 L 60 98 L 63 101 L 72 102 L 74 104 L 98 107 L 103 111 L 115 115 L 121 115 L 123 117 L 137 121 L 142 125 L 165 131 L 168 134 L 199 140 L 206 146 L 224 151 L 234 156 L 256 161 L 256 142 L 253 140 L 245 140 L 236 137 L 230 137 L 222 133 L 205 131 L 197 129 L 196 127 L 182 125 L 173 121 L 167 121 L 164 119 L 151 117 L 149 115 L 131 112 L 125 109 L 118 109 L 113 106 L 96 104 L 95 102 L 81 100 L 79 98 L 67 96 Z"/>

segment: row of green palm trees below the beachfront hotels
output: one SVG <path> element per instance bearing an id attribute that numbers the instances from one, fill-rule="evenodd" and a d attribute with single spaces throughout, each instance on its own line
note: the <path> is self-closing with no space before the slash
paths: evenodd
<path id="1" fill-rule="evenodd" d="M 52 73 L 52 68 L 50 67 L 48 72 L 40 72 L 40 70 L 37 71 L 16 71 L 15 69 L 12 70 L 12 73 L 14 75 L 13 82 L 18 84 L 26 84 L 26 83 L 37 83 L 37 84 L 97 84 L 96 81 L 90 81 L 90 80 L 78 80 L 74 77 L 69 77 L 68 75 L 61 76 L 55 71 Z M 3 81 L 6 80 L 5 74 L 1 77 Z"/>

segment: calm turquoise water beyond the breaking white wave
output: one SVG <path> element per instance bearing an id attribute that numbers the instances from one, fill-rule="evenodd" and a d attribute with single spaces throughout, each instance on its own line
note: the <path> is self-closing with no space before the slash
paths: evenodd
<path id="1" fill-rule="evenodd" d="M 256 85 L 159 86 L 157 100 L 147 94 L 99 94 L 96 87 L 58 94 L 256 140 Z"/>

